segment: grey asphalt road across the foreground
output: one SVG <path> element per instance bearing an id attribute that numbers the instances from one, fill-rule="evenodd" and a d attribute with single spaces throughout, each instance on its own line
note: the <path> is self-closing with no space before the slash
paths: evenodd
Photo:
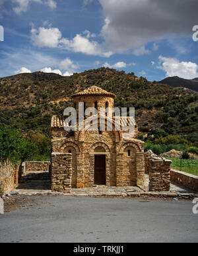
<path id="1" fill-rule="evenodd" d="M 188 201 L 42 196 L 0 216 L 0 242 L 197 242 Z"/>

